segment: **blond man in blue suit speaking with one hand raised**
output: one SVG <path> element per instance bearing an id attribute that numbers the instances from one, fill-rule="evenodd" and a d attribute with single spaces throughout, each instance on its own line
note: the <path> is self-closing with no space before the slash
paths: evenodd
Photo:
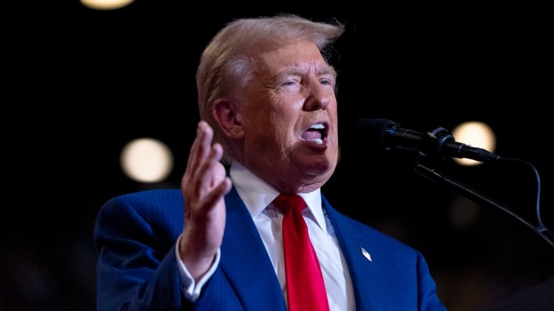
<path id="1" fill-rule="evenodd" d="M 215 35 L 197 69 L 201 121 L 180 190 L 119 196 L 99 211 L 99 310 L 290 310 L 280 193 L 308 205 L 330 310 L 445 310 L 418 251 L 320 192 L 339 148 L 325 52 L 343 32 L 281 15 Z"/>

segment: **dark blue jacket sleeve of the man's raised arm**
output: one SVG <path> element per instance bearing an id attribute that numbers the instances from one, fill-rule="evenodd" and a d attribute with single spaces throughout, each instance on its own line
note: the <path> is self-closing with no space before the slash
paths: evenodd
<path id="1" fill-rule="evenodd" d="M 171 230 L 178 224 L 157 227 L 163 213 L 146 213 L 151 210 L 140 202 L 133 196 L 113 198 L 97 215 L 99 311 L 179 310 L 183 303 Z"/>

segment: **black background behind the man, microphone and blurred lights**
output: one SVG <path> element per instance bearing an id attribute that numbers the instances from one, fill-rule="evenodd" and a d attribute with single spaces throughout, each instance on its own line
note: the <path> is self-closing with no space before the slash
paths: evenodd
<path id="1" fill-rule="evenodd" d="M 299 13 L 347 26 L 337 42 L 341 162 L 323 191 L 336 208 L 419 249 L 449 310 L 491 310 L 554 277 L 554 247 L 501 208 L 469 200 L 414 171 L 352 130 L 386 118 L 425 132 L 467 120 L 489 124 L 496 153 L 522 159 L 433 164 L 536 226 L 537 200 L 552 230 L 548 171 L 552 22 L 541 6 L 352 6 L 141 1 L 93 11 L 77 1 L 28 5 L 10 30 L 16 55 L 20 164 L 6 193 L 0 310 L 94 310 L 94 217 L 112 196 L 178 186 L 198 121 L 200 52 L 234 18 Z M 15 35 L 24 30 L 21 35 Z M 6 114 L 6 121 L 10 121 Z M 13 121 L 13 120 L 12 120 Z M 175 169 L 141 185 L 119 168 L 136 137 L 165 142 Z M 7 204 L 7 203 L 6 203 Z M 473 213 L 473 214 L 472 214 Z M 467 221 L 460 217 L 473 215 Z"/>

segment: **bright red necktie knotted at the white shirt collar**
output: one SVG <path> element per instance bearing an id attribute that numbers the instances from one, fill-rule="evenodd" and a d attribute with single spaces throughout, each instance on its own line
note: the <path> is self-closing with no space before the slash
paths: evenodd
<path id="1" fill-rule="evenodd" d="M 281 194 L 273 200 L 273 204 L 284 213 L 283 249 L 288 311 L 329 310 L 320 264 L 301 213 L 306 203 L 298 195 Z"/>

